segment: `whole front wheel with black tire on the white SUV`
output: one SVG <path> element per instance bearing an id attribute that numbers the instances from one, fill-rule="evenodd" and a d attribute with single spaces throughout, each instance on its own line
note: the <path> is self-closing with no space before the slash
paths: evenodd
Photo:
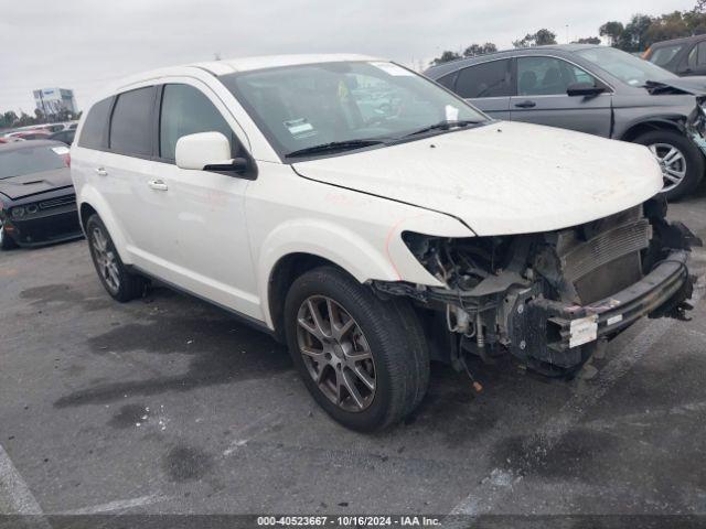
<path id="1" fill-rule="evenodd" d="M 411 306 L 378 299 L 336 268 L 317 268 L 292 283 L 285 326 L 307 389 L 346 428 L 373 432 L 391 427 L 414 411 L 426 393 L 429 352 Z M 347 331 L 335 338 L 341 328 Z M 322 339 L 314 337 L 317 333 Z"/>

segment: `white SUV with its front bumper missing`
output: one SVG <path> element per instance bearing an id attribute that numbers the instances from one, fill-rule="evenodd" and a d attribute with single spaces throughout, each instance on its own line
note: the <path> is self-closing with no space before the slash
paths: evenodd
<path id="1" fill-rule="evenodd" d="M 361 110 L 381 93 L 395 105 Z M 352 429 L 409 414 L 430 359 L 509 352 L 573 376 L 638 317 L 688 307 L 696 239 L 665 222 L 645 147 L 491 120 L 387 61 L 151 72 L 103 94 L 77 138 L 108 293 L 157 278 L 268 331 Z"/>

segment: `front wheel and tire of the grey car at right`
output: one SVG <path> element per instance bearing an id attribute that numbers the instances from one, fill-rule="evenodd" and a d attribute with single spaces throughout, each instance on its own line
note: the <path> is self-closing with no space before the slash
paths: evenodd
<path id="1" fill-rule="evenodd" d="M 675 201 L 692 193 L 704 177 L 704 154 L 688 138 L 678 132 L 654 130 L 639 136 L 634 139 L 634 143 L 648 145 L 660 161 L 665 184 L 662 193 L 667 201 Z M 670 155 L 672 150 L 678 151 L 678 155 Z M 665 164 L 663 159 L 674 161 Z M 668 169 L 673 172 L 667 172 Z M 683 176 L 678 183 L 667 180 L 678 177 L 680 173 Z"/>

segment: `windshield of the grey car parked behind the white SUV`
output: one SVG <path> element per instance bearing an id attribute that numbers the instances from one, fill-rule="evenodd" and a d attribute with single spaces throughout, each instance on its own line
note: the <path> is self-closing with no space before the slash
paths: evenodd
<path id="1" fill-rule="evenodd" d="M 643 86 L 648 80 L 676 78 L 673 73 L 614 47 L 589 47 L 576 54 L 631 86 Z"/>

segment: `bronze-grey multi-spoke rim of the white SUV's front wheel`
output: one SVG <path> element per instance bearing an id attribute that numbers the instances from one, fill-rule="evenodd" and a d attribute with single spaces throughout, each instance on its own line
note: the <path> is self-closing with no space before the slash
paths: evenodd
<path id="1" fill-rule="evenodd" d="M 304 300 L 297 313 L 297 345 L 309 375 L 339 408 L 360 412 L 375 398 L 373 355 L 357 322 L 323 295 Z"/>

